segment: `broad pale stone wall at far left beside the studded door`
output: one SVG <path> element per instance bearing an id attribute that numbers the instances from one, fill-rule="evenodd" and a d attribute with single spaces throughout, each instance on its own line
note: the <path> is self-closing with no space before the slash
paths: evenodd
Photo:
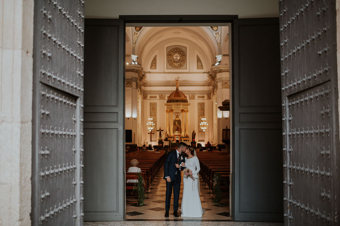
<path id="1" fill-rule="evenodd" d="M 0 225 L 31 225 L 33 0 L 0 0 Z"/>

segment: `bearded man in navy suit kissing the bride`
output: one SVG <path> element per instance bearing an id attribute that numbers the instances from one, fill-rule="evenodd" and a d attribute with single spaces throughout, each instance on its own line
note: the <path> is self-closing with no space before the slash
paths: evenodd
<path id="1" fill-rule="evenodd" d="M 181 171 L 185 169 L 181 166 L 185 163 L 185 157 L 182 153 L 187 149 L 187 145 L 184 142 L 180 142 L 176 151 L 170 151 L 165 159 L 164 163 L 164 177 L 166 180 L 167 190 L 165 193 L 165 215 L 164 217 L 169 217 L 170 209 L 170 199 L 173 190 L 173 215 L 179 217 L 178 210 L 178 200 L 180 198 L 180 187 L 181 187 Z M 183 164 L 185 165 L 185 164 Z M 173 189 L 172 189 L 173 188 Z"/>

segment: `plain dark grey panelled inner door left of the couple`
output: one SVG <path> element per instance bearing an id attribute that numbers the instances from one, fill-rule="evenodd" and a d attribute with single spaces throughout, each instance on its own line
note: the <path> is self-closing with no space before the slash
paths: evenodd
<path id="1" fill-rule="evenodd" d="M 85 19 L 85 221 L 125 217 L 125 26 Z"/>

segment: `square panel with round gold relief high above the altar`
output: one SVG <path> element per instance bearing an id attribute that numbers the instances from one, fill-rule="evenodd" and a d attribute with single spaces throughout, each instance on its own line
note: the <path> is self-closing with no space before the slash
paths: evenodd
<path id="1" fill-rule="evenodd" d="M 187 47 L 181 45 L 167 47 L 167 69 L 187 69 Z"/>

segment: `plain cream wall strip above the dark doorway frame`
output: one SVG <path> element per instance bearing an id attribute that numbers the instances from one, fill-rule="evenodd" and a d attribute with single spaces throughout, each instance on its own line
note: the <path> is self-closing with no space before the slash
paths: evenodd
<path id="1" fill-rule="evenodd" d="M 278 4 L 278 0 L 85 0 L 85 17 L 119 18 L 119 15 L 278 17 Z"/>

